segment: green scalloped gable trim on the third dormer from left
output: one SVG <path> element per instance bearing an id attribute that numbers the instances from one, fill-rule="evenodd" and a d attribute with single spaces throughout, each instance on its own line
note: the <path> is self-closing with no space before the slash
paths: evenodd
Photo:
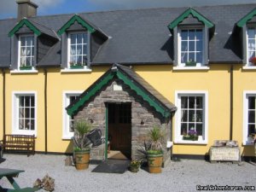
<path id="1" fill-rule="evenodd" d="M 201 22 L 203 22 L 208 28 L 212 28 L 214 24 L 212 21 L 207 20 L 206 17 L 198 13 L 195 9 L 189 8 L 187 9 L 182 15 L 179 15 L 176 20 L 173 20 L 172 23 L 169 24 L 169 28 L 173 29 L 176 27 L 179 23 L 181 23 L 185 18 L 187 18 L 189 15 L 192 15 L 193 17 L 197 18 Z"/>

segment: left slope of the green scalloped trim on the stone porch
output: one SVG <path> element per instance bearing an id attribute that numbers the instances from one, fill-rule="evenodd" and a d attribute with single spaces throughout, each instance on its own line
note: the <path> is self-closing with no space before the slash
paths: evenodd
<path id="1" fill-rule="evenodd" d="M 91 90 L 89 90 L 83 97 L 80 98 L 79 102 L 76 102 L 72 108 L 67 109 L 67 114 L 68 115 L 73 115 L 75 114 L 81 106 L 84 105 L 85 102 L 89 101 L 91 96 L 95 96 L 96 92 L 98 90 L 101 90 L 102 87 L 108 82 L 113 79 L 114 74 L 113 73 L 108 73 L 106 77 L 104 77 L 101 81 L 99 81 L 98 84 L 94 85 Z"/>

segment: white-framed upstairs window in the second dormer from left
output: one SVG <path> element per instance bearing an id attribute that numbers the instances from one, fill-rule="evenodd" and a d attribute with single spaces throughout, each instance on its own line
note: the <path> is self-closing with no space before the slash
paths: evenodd
<path id="1" fill-rule="evenodd" d="M 79 69 L 87 68 L 89 62 L 89 32 L 70 32 L 68 43 L 68 67 Z"/>

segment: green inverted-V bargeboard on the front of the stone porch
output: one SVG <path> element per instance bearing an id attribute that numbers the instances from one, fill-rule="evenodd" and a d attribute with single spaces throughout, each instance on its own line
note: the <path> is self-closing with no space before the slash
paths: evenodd
<path id="1" fill-rule="evenodd" d="M 117 67 L 113 69 L 113 67 Z M 96 92 L 102 90 L 102 87 L 112 79 L 120 79 L 124 84 L 128 85 L 131 90 L 134 90 L 138 96 L 142 96 L 143 100 L 148 102 L 148 104 L 160 113 L 164 118 L 169 118 L 171 116 L 171 109 L 163 105 L 155 96 L 152 96 L 146 89 L 143 89 L 143 85 L 137 84 L 134 79 L 131 79 L 129 75 L 126 75 L 124 71 L 119 70 L 118 66 L 113 65 L 112 68 L 102 75 L 102 78 L 98 79 L 96 83 L 92 84 L 84 93 L 79 96 L 73 103 L 71 103 L 66 109 L 68 115 L 74 115 L 79 111 L 85 102 L 88 102 L 90 98 L 96 96 Z"/>

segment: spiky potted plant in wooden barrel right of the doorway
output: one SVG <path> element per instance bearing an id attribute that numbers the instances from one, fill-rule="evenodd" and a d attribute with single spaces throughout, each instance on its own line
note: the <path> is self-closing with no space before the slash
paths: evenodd
<path id="1" fill-rule="evenodd" d="M 161 166 L 163 163 L 163 149 L 160 142 L 162 141 L 164 134 L 160 130 L 159 126 L 154 126 L 154 128 L 149 131 L 148 137 L 149 137 L 149 146 L 147 150 L 148 171 L 150 173 L 160 173 L 162 172 Z"/>

